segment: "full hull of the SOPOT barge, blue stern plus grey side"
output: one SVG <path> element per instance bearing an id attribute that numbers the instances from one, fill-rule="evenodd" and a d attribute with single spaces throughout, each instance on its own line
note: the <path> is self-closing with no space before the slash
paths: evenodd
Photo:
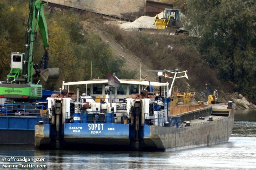
<path id="1" fill-rule="evenodd" d="M 140 141 L 140 149 L 175 151 L 227 142 L 234 124 L 233 109 L 220 109 L 218 111 L 214 111 L 213 109 L 212 114 L 210 115 L 212 121 L 208 121 L 209 116 L 204 116 L 204 120 L 199 119 L 200 113 L 205 112 L 205 114 L 208 114 L 211 109 L 212 107 L 207 107 L 192 111 L 194 113 L 187 112 L 182 114 L 186 120 L 189 120 L 189 116 L 191 117 L 190 126 L 186 126 L 185 123 L 182 123 L 180 127 L 164 127 L 145 124 L 143 126 L 143 137 Z M 65 146 L 68 148 L 75 146 L 80 149 L 102 149 L 104 147 L 112 149 L 118 148 L 119 150 L 122 148 L 124 150 L 127 150 L 127 148 L 134 149 L 134 141 L 132 141 L 131 130 L 129 130 L 128 125 L 108 125 L 113 127 L 118 125 L 119 127 L 116 127 L 116 129 L 123 132 L 122 136 L 118 136 L 118 134 L 115 133 L 113 135 L 109 134 L 108 137 L 98 135 L 97 137 L 92 138 L 85 133 L 87 127 L 86 123 L 64 124 L 63 141 Z M 73 126 L 83 127 L 82 129 L 84 130 L 80 135 L 69 135 L 67 131 Z M 50 129 L 49 125 L 36 125 L 36 147 L 49 146 Z M 104 134 L 104 131 L 102 131 L 102 134 Z M 65 148 L 65 146 L 63 145 L 62 147 Z"/>

